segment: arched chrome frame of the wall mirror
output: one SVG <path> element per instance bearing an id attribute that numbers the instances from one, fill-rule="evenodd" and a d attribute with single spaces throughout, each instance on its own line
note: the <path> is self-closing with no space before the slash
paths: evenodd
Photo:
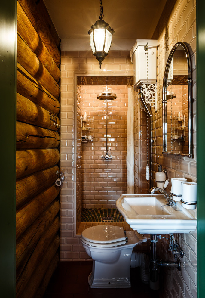
<path id="1" fill-rule="evenodd" d="M 188 79 L 187 79 L 187 85 L 188 85 L 188 154 L 185 153 L 175 153 L 175 152 L 169 152 L 167 151 L 167 79 L 168 79 L 168 72 L 170 69 L 170 64 L 174 55 L 174 52 L 176 49 L 182 46 L 187 57 L 187 66 L 188 66 Z M 187 46 L 183 42 L 177 42 L 167 59 L 167 64 L 164 71 L 164 78 L 163 78 L 163 87 L 162 87 L 162 117 L 163 117 L 163 151 L 162 153 L 165 154 L 173 154 L 173 155 L 181 155 L 186 156 L 188 158 L 192 158 L 192 124 L 191 124 L 191 115 L 192 115 L 192 109 L 191 109 L 191 59 L 188 52 Z"/>

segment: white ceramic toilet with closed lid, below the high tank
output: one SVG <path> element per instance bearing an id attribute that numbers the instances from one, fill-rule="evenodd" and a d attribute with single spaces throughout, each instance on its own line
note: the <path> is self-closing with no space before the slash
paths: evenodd
<path id="1" fill-rule="evenodd" d="M 140 235 L 137 231 L 125 232 L 122 227 L 111 225 L 85 229 L 81 234 L 81 242 L 86 253 L 93 259 L 93 270 L 88 277 L 90 287 L 130 287 L 130 266 L 140 266 L 135 260 L 135 253 L 132 253 L 133 247 L 147 239 L 149 235 Z"/>

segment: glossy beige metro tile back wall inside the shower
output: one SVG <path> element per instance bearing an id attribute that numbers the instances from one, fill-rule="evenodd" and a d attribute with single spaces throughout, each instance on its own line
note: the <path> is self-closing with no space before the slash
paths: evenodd
<path id="1" fill-rule="evenodd" d="M 93 141 L 82 143 L 83 208 L 116 208 L 115 202 L 126 193 L 127 167 L 127 86 L 108 86 L 117 99 L 108 101 L 108 148 L 106 152 L 106 101 L 97 99 L 105 86 L 81 86 L 83 113 L 94 118 Z M 86 124 L 85 124 L 86 125 Z"/>

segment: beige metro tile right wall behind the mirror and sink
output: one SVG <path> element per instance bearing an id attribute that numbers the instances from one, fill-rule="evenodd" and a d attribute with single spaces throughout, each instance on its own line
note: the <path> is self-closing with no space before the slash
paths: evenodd
<path id="1" fill-rule="evenodd" d="M 154 171 L 158 164 L 168 169 L 168 178 L 182 177 L 188 181 L 196 181 L 196 1 L 177 0 L 167 1 L 162 17 L 155 30 L 153 39 L 158 39 L 158 112 L 154 113 Z M 165 64 L 171 48 L 176 42 L 185 42 L 191 54 L 193 80 L 193 158 L 162 155 L 162 82 Z M 160 125 L 159 125 L 160 123 Z M 170 190 L 170 186 L 169 186 Z M 194 210 L 195 211 L 195 210 Z M 194 212 L 195 213 L 195 212 Z M 169 298 L 196 298 L 196 231 L 189 234 L 177 235 L 179 244 L 185 252 L 182 261 L 182 270 L 163 270 L 164 287 L 161 297 Z M 173 260 L 167 252 L 167 242 L 158 241 L 159 258 Z"/>

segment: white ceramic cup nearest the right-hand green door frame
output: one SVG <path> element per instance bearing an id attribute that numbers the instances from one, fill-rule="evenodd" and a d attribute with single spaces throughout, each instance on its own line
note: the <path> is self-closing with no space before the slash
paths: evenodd
<path id="1" fill-rule="evenodd" d="M 187 203 L 195 203 L 197 201 L 196 182 L 182 182 L 182 201 Z"/>

